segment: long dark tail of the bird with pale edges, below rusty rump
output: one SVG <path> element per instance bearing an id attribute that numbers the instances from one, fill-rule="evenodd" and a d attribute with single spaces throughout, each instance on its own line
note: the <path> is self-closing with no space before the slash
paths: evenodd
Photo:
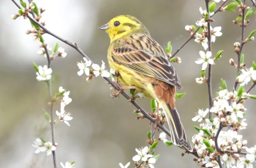
<path id="1" fill-rule="evenodd" d="M 174 145 L 181 146 L 186 150 L 192 152 L 193 149 L 187 139 L 187 136 L 185 134 L 183 125 L 180 121 L 180 117 L 176 108 L 174 107 L 173 109 L 169 103 L 164 103 L 160 101 L 160 104 L 164 109 L 167 123 L 170 128 L 172 143 Z"/>

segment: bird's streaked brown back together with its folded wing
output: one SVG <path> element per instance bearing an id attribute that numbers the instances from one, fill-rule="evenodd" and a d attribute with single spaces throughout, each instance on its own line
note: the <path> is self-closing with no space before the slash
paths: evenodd
<path id="1" fill-rule="evenodd" d="M 163 49 L 152 38 L 150 40 L 148 38 L 150 37 L 131 36 L 131 38 L 116 41 L 118 44 L 111 52 L 112 60 L 138 73 L 181 89 L 179 77 Z"/>

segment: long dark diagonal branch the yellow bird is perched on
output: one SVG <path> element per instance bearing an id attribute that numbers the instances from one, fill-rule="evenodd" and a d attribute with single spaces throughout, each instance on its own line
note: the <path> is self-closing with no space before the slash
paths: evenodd
<path id="1" fill-rule="evenodd" d="M 15 5 L 16 5 L 19 9 L 22 9 L 21 6 L 20 6 L 18 3 L 15 2 L 15 0 L 12 0 L 12 1 L 15 3 Z M 49 34 L 49 35 L 51 35 L 51 36 L 53 36 L 53 37 L 59 39 L 60 41 L 62 41 L 63 43 L 66 43 L 67 45 L 73 47 L 73 48 L 76 49 L 83 57 L 85 57 L 87 60 L 90 60 L 90 58 L 89 58 L 87 55 L 85 55 L 84 52 L 77 46 L 77 43 L 71 43 L 71 42 L 69 42 L 69 41 L 67 41 L 67 40 L 65 40 L 65 39 L 63 39 L 63 38 L 61 38 L 60 36 L 54 34 L 53 32 L 50 32 L 47 28 L 45 28 L 43 25 L 41 25 L 40 23 L 38 23 L 38 21 L 36 21 L 35 19 L 33 19 L 31 16 L 28 15 L 27 17 L 28 17 L 30 20 L 32 20 L 36 25 L 38 25 L 41 29 L 43 29 L 45 33 L 47 33 L 47 34 Z M 90 61 L 91 61 L 91 60 L 90 60 Z M 93 64 L 92 61 L 91 61 L 91 63 Z M 116 90 L 118 90 L 118 91 L 120 90 L 119 87 L 118 87 L 115 83 L 113 83 L 112 79 L 109 79 L 109 78 L 106 78 L 106 77 L 104 77 L 104 79 L 107 80 L 108 83 L 111 84 Z M 131 97 L 128 96 L 125 92 L 122 92 L 121 94 L 122 94 L 127 100 L 131 100 Z M 154 118 L 152 118 L 152 117 L 151 117 L 142 107 L 140 107 L 140 105 L 138 105 L 134 100 L 131 101 L 131 104 L 133 104 L 138 110 L 140 110 L 140 112 L 144 115 L 144 118 L 146 118 L 146 119 L 150 120 L 151 122 L 155 123 Z M 160 124 L 160 123 L 157 123 L 157 126 L 158 126 L 161 130 L 163 130 L 168 136 L 171 137 L 170 131 L 167 130 L 164 125 L 162 125 L 162 124 Z M 195 157 L 198 158 L 198 155 L 197 155 L 196 152 L 189 152 L 189 151 L 187 151 L 187 152 L 190 153 L 190 154 L 195 155 Z"/>

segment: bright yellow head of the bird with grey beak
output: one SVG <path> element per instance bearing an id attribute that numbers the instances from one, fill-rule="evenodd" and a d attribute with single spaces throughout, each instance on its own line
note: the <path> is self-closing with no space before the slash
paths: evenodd
<path id="1" fill-rule="evenodd" d="M 135 33 L 149 35 L 144 25 L 137 18 L 130 15 L 117 16 L 107 24 L 100 26 L 99 29 L 108 33 L 111 42 Z"/>

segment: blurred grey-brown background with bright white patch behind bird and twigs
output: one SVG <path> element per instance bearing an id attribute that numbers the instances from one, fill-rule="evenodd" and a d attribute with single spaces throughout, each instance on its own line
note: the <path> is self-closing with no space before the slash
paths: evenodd
<path id="1" fill-rule="evenodd" d="M 148 29 L 151 36 L 165 49 L 167 42 L 171 41 L 172 53 L 179 48 L 189 37 L 185 31 L 186 25 L 195 25 L 201 14 L 199 7 L 205 8 L 203 0 L 180 1 L 146 1 L 146 0 L 35 0 L 38 7 L 46 11 L 42 14 L 42 21 L 46 27 L 57 35 L 71 42 L 78 43 L 90 59 L 97 64 L 101 60 L 107 65 L 108 35 L 98 27 L 106 24 L 115 16 L 128 14 L 137 17 Z M 230 1 L 231 2 L 231 1 Z M 228 3 L 230 3 L 228 2 Z M 227 4 L 228 4 L 227 3 Z M 27 3 L 28 4 L 28 3 Z M 216 8 L 221 3 L 216 5 Z M 249 1 L 248 6 L 252 6 Z M 237 9 L 236 9 L 237 10 Z M 31 146 L 33 141 L 42 136 L 51 141 L 50 125 L 44 119 L 42 109 L 49 111 L 48 90 L 44 82 L 36 80 L 36 73 L 32 62 L 45 65 L 43 55 L 37 55 L 39 42 L 34 42 L 32 34 L 25 31 L 31 29 L 28 20 L 22 17 L 17 20 L 10 18 L 11 14 L 18 13 L 17 7 L 11 0 L 0 2 L 0 167 L 13 168 L 44 168 L 53 167 L 52 156 L 46 153 L 35 154 Z M 237 62 L 233 43 L 240 42 L 239 26 L 232 21 L 237 13 L 219 12 L 214 15 L 213 27 L 221 26 L 223 35 L 212 43 L 212 52 L 224 49 L 222 58 L 216 62 L 212 70 L 212 93 L 221 86 L 220 78 L 226 80 L 231 91 L 236 69 L 229 65 L 229 59 Z M 255 28 L 255 17 L 245 29 L 245 37 Z M 44 36 L 45 42 L 54 47 L 57 39 L 48 34 Z M 149 121 L 136 120 L 129 102 L 123 97 L 115 101 L 110 97 L 112 90 L 101 77 L 86 82 L 86 75 L 78 76 L 77 62 L 83 60 L 82 56 L 70 46 L 60 42 L 65 48 L 67 57 L 52 61 L 53 91 L 56 93 L 59 86 L 70 91 L 71 104 L 66 110 L 72 113 L 70 127 L 58 122 L 56 128 L 56 150 L 58 166 L 60 162 L 76 161 L 78 168 L 119 167 L 124 165 L 136 155 L 135 148 L 147 146 L 147 132 Z M 191 137 L 197 133 L 193 125 L 200 123 L 191 119 L 198 112 L 198 108 L 208 108 L 207 84 L 198 85 L 195 78 L 200 77 L 201 65 L 195 64 L 199 58 L 199 51 L 203 50 L 201 44 L 191 40 L 176 56 L 181 57 L 182 63 L 174 63 L 179 74 L 182 90 L 179 93 L 187 94 L 176 100 L 177 109 L 186 130 Z M 243 48 L 245 62 L 251 67 L 255 60 L 255 42 L 246 44 Z M 108 65 L 107 68 L 109 69 Z M 249 87 L 249 86 L 246 86 Z M 251 94 L 256 94 L 255 90 Z M 145 110 L 150 111 L 150 100 L 137 101 Z M 255 144 L 254 129 L 255 101 L 248 100 L 247 129 L 242 130 L 248 146 Z M 60 110 L 60 104 L 54 104 L 54 111 Z M 57 116 L 55 115 L 57 119 Z M 167 125 L 166 125 L 167 126 Z M 168 126 L 167 126 L 168 127 Z M 156 135 L 158 137 L 158 134 Z M 169 138 L 170 140 L 170 138 Z M 193 155 L 181 157 L 183 151 L 176 146 L 166 147 L 162 142 L 156 148 L 160 154 L 155 167 L 198 167 L 193 161 Z M 133 167 L 133 166 L 132 166 Z"/>

